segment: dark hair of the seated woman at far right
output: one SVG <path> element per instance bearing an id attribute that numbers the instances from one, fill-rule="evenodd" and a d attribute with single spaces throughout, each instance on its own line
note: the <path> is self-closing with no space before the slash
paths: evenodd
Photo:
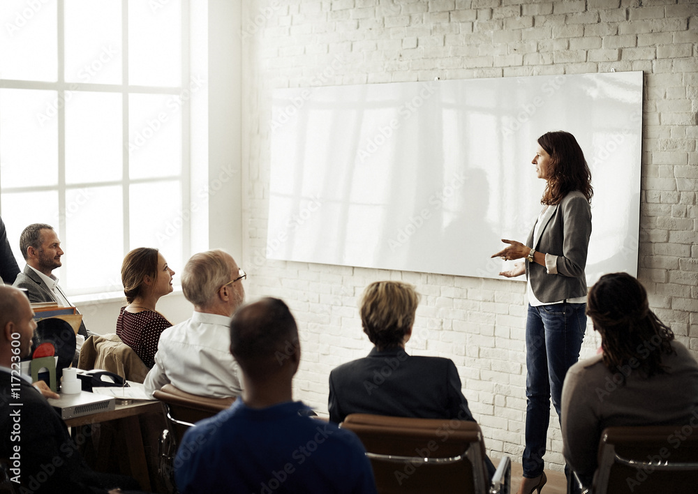
<path id="1" fill-rule="evenodd" d="M 664 373 L 662 354 L 671 348 L 674 332 L 650 310 L 647 292 L 627 273 L 604 274 L 591 290 L 586 315 L 601 334 L 604 364 L 621 372 L 625 382 L 628 368 L 647 377 Z"/>

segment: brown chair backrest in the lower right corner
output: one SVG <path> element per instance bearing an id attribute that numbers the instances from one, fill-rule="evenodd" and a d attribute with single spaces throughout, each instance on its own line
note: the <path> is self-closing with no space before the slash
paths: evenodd
<path id="1" fill-rule="evenodd" d="M 698 490 L 698 431 L 684 426 L 609 427 L 601 435 L 593 492 Z"/>

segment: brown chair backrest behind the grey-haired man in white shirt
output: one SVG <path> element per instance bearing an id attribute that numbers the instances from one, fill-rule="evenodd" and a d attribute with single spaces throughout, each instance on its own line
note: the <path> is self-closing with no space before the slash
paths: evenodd
<path id="1" fill-rule="evenodd" d="M 165 384 L 163 389 L 155 391 L 153 396 L 165 404 L 170 431 L 174 433 L 177 444 L 181 442 L 181 437 L 189 427 L 200 420 L 213 417 L 235 401 L 233 397 L 208 398 L 185 393 L 172 384 Z"/>

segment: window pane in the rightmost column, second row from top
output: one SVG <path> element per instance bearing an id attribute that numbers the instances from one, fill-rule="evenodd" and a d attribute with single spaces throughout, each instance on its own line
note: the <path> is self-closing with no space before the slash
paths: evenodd
<path id="1" fill-rule="evenodd" d="M 181 105 L 172 95 L 131 94 L 128 160 L 132 179 L 179 175 Z"/>

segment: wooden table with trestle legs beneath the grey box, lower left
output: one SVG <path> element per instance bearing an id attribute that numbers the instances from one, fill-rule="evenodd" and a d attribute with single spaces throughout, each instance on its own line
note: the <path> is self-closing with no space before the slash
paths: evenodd
<path id="1" fill-rule="evenodd" d="M 162 403 L 159 401 L 135 401 L 129 405 L 116 405 L 114 410 L 109 412 L 97 412 L 94 414 L 82 415 L 82 417 L 73 417 L 67 419 L 66 426 L 75 428 L 87 426 L 89 424 L 99 424 L 101 422 L 114 421 L 114 428 L 117 431 L 117 457 L 123 463 L 121 470 L 131 474 L 131 477 L 136 479 L 142 490 L 151 491 L 150 475 L 145 457 L 145 448 L 143 444 L 143 435 L 140 427 L 139 417 L 142 414 L 151 412 L 163 413 Z M 73 436 L 75 442 L 79 442 Z M 84 438 L 82 439 L 84 442 Z M 78 444 L 80 445 L 80 444 Z M 110 451 L 107 448 L 100 447 L 97 454 L 98 470 L 100 467 L 107 467 L 105 463 L 111 461 L 113 456 L 110 456 Z"/>

